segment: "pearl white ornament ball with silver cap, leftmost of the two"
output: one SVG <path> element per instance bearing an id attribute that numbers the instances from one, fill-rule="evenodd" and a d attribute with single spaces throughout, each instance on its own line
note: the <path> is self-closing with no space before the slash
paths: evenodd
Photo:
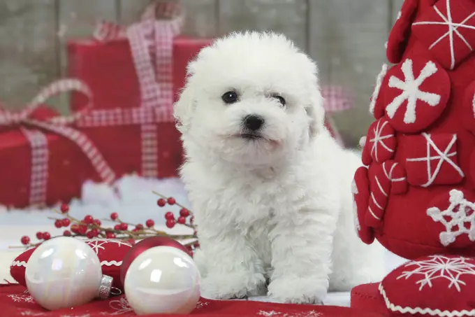
<path id="1" fill-rule="evenodd" d="M 101 278 L 101 262 L 94 250 L 72 237 L 43 242 L 25 270 L 29 293 L 49 310 L 91 302 L 98 295 Z"/>

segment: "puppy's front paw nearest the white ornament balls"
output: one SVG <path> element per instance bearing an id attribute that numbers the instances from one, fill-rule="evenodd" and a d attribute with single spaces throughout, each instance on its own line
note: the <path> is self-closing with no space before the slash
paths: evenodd
<path id="1" fill-rule="evenodd" d="M 208 272 L 201 283 L 201 293 L 203 297 L 216 300 L 265 295 L 265 278 L 263 274 L 258 273 L 215 274 Z"/>

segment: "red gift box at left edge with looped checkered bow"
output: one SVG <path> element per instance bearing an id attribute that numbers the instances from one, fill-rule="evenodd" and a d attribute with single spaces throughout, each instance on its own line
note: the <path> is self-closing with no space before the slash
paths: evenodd
<path id="1" fill-rule="evenodd" d="M 0 111 L 0 204 L 23 208 L 68 202 L 80 197 L 87 180 L 115 180 L 94 144 L 68 125 L 82 113 L 66 118 L 42 105 L 52 95 L 69 90 L 90 97 L 77 80 L 60 80 L 23 111 Z"/>

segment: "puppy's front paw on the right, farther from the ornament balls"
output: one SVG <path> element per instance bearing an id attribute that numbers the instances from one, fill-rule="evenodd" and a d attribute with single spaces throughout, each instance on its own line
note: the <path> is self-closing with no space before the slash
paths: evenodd
<path id="1" fill-rule="evenodd" d="M 323 304 L 328 291 L 328 279 L 322 276 L 283 276 L 271 281 L 268 290 L 272 302 Z"/>

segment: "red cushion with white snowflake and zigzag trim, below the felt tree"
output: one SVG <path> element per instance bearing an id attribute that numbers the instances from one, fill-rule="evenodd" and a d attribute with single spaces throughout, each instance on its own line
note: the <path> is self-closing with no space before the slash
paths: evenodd
<path id="1" fill-rule="evenodd" d="M 407 262 L 379 284 L 390 311 L 412 315 L 474 316 L 474 291 L 475 259 L 457 255 Z"/>

